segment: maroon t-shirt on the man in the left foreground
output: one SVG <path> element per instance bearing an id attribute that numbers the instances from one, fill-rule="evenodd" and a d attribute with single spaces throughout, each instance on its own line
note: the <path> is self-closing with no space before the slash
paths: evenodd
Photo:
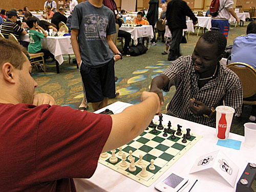
<path id="1" fill-rule="evenodd" d="M 75 191 L 90 178 L 112 127 L 110 115 L 68 106 L 0 103 L 0 191 Z"/>

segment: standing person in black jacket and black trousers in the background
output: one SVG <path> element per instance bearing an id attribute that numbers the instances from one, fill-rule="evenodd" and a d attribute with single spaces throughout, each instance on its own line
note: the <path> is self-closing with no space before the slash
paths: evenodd
<path id="1" fill-rule="evenodd" d="M 172 32 L 172 45 L 170 45 L 168 60 L 175 60 L 180 54 L 180 43 L 182 39 L 183 29 L 186 29 L 186 16 L 193 20 L 193 24 L 197 24 L 197 17 L 182 0 L 172 0 L 167 5 L 166 20 L 167 25 Z"/>

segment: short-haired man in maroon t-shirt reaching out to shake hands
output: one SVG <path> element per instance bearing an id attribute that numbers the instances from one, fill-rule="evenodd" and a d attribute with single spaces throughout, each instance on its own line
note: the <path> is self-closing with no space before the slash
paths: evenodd
<path id="1" fill-rule="evenodd" d="M 0 50 L 1 192 L 76 191 L 72 178 L 92 177 L 101 152 L 130 142 L 160 112 L 150 92 L 115 115 L 55 105 L 48 94 L 34 95 L 25 48 L 1 38 Z"/>

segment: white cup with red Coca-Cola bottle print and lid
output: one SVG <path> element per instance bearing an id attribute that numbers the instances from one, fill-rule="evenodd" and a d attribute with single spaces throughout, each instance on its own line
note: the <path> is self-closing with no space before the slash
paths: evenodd
<path id="1" fill-rule="evenodd" d="M 229 135 L 234 109 L 231 106 L 217 106 L 216 108 L 216 136 L 226 140 Z"/>

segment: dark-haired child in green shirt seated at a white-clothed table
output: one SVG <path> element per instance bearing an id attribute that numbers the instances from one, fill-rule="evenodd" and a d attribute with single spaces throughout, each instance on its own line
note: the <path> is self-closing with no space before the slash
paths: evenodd
<path id="1" fill-rule="evenodd" d="M 45 63 L 48 57 L 51 57 L 52 59 L 54 59 L 54 55 L 50 51 L 46 49 L 42 49 L 41 39 L 44 37 L 47 37 L 47 34 L 44 31 L 44 29 L 42 29 L 40 26 L 37 25 L 37 19 L 35 17 L 28 17 L 28 19 L 26 20 L 26 23 L 29 27 L 29 41 L 30 41 L 28 46 L 28 52 L 29 53 L 43 52 Z"/>

